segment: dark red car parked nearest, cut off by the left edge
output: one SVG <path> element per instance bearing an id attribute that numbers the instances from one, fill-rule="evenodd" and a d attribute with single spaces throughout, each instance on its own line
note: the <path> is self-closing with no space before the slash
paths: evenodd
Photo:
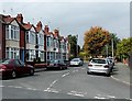
<path id="1" fill-rule="evenodd" d="M 7 59 L 0 63 L 0 76 L 2 78 L 6 77 L 16 78 L 18 76 L 24 74 L 34 75 L 34 67 L 24 64 L 20 59 Z"/>

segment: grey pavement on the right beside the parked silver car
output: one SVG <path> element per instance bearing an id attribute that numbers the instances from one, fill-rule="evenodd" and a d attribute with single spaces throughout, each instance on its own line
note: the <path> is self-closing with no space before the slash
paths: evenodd
<path id="1" fill-rule="evenodd" d="M 131 72 L 132 72 L 132 68 L 124 65 L 123 63 L 117 63 L 113 68 L 113 74 L 111 77 L 118 81 L 132 86 L 132 80 L 130 78 Z"/>

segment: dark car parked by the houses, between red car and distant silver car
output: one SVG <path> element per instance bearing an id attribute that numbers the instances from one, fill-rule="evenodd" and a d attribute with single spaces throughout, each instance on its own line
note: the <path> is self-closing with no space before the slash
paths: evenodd
<path id="1" fill-rule="evenodd" d="M 47 69 L 67 69 L 67 65 L 64 63 L 64 60 L 55 59 L 50 60 L 46 66 Z"/>

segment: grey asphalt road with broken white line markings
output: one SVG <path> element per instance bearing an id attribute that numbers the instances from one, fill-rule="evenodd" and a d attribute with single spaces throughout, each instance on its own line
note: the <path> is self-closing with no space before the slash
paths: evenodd
<path id="1" fill-rule="evenodd" d="M 2 81 L 3 99 L 130 99 L 130 86 L 103 75 L 87 75 L 87 64 L 43 70 Z M 123 100 L 124 101 L 124 100 Z"/>

